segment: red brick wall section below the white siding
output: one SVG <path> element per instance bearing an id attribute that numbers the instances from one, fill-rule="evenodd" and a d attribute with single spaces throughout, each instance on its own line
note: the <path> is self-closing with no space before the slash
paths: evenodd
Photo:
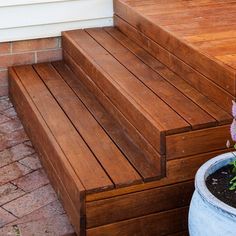
<path id="1" fill-rule="evenodd" d="M 60 37 L 0 43 L 0 96 L 8 94 L 9 66 L 56 61 L 61 58 Z"/>

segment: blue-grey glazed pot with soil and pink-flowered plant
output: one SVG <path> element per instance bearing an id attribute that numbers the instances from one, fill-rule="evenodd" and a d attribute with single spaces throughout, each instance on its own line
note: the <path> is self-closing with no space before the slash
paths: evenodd
<path id="1" fill-rule="evenodd" d="M 236 142 L 235 102 L 232 111 L 231 136 Z M 198 170 L 189 210 L 189 234 L 236 236 L 236 152 L 219 155 Z"/>

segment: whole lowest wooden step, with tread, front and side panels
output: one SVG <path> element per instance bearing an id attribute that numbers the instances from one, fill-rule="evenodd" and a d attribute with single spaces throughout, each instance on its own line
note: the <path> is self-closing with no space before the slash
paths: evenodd
<path id="1" fill-rule="evenodd" d="M 186 230 L 193 174 L 187 182 L 175 184 L 174 177 L 170 186 L 165 180 L 158 188 L 98 200 L 99 192 L 157 181 L 160 157 L 148 158 L 65 63 L 14 67 L 9 77 L 11 99 L 78 235 L 118 234 L 127 223 L 122 232 L 136 234 L 139 221 L 162 222 L 150 233 Z M 175 228 L 168 229 L 170 218 Z"/>

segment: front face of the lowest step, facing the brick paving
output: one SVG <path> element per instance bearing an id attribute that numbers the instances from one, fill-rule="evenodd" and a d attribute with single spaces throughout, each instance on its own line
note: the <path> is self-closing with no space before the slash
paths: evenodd
<path id="1" fill-rule="evenodd" d="M 78 235 L 85 235 L 85 188 L 13 69 L 10 96 Z"/>

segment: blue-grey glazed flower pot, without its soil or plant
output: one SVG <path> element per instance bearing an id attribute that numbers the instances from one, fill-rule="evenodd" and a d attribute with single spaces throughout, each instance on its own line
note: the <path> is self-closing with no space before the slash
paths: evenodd
<path id="1" fill-rule="evenodd" d="M 234 158 L 232 153 L 222 154 L 207 161 L 198 170 L 189 210 L 190 236 L 236 235 L 236 208 L 217 199 L 208 190 L 205 182 L 209 175 L 229 164 Z"/>

